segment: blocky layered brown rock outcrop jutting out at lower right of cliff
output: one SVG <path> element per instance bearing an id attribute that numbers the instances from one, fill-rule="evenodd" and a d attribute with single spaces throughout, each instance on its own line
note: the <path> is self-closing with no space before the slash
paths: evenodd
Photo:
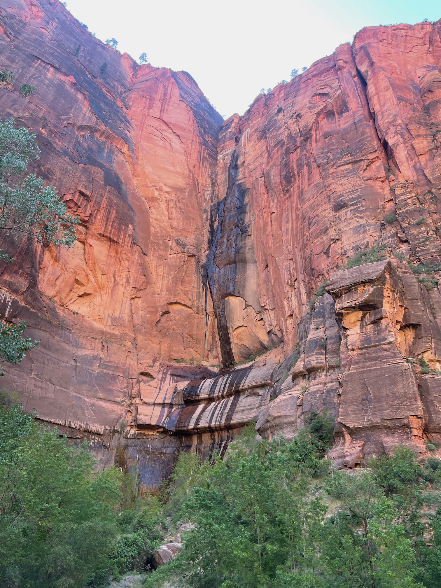
<path id="1" fill-rule="evenodd" d="M 426 289 L 394 258 L 335 272 L 326 290 L 291 377 L 256 429 L 292 437 L 315 410 L 335 419 L 336 466 L 355 467 L 398 443 L 427 454 L 424 440 L 441 439 L 441 331 Z"/>

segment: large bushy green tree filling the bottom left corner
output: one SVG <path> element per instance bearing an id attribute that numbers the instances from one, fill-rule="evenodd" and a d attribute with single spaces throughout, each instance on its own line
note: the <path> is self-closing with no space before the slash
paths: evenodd
<path id="1" fill-rule="evenodd" d="M 0 586 L 82 588 L 111 573 L 115 497 L 96 492 L 92 466 L 86 447 L 0 407 Z"/>

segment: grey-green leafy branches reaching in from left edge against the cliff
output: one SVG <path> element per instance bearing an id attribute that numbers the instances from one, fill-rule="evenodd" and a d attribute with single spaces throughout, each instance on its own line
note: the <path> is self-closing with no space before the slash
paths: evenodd
<path id="1" fill-rule="evenodd" d="M 79 219 L 69 215 L 55 188 L 45 186 L 42 178 L 28 173 L 29 163 L 39 159 L 35 135 L 18 128 L 14 119 L 0 121 L 0 230 L 4 238 L 29 238 L 36 243 L 64 245 L 75 243 L 75 225 Z M 0 259 L 12 259 L 0 249 Z M 25 352 L 38 345 L 23 338 L 26 322 L 0 323 L 0 358 L 19 363 Z M 4 372 L 0 366 L 0 376 Z"/>

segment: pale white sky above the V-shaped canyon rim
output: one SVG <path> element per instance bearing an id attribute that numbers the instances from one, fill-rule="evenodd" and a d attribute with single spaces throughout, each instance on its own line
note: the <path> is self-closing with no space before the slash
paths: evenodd
<path id="1" fill-rule="evenodd" d="M 352 42 L 363 26 L 441 18 L 440 0 L 67 0 L 102 41 L 189 72 L 223 116 Z"/>

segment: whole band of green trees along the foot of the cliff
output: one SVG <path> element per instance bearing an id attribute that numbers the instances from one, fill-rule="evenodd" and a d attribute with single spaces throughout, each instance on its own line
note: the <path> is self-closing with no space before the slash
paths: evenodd
<path id="1" fill-rule="evenodd" d="M 0 392 L 0 587 L 92 588 L 148 572 L 163 529 L 192 522 L 162 588 L 435 588 L 441 585 L 439 460 L 406 447 L 365 469 L 325 459 L 333 425 L 312 413 L 291 442 L 253 426 L 210 464 L 182 453 L 158 498 L 135 477 L 98 474 Z"/>

